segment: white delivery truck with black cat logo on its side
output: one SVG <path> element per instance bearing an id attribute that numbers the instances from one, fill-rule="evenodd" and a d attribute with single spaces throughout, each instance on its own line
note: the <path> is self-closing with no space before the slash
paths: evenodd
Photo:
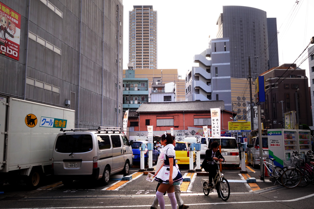
<path id="1" fill-rule="evenodd" d="M 30 189 L 51 174 L 52 148 L 60 128 L 74 128 L 75 111 L 0 97 L 0 186 L 23 183 Z"/>

